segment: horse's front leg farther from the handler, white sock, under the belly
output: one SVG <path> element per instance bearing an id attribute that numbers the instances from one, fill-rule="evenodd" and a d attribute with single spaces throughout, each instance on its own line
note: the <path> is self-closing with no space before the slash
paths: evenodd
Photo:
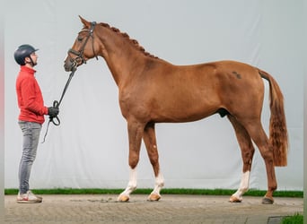
<path id="1" fill-rule="evenodd" d="M 155 184 L 153 192 L 148 196 L 148 201 L 158 201 L 161 198 L 160 191 L 164 185 L 164 180 L 160 171 L 159 153 L 154 132 L 154 124 L 149 123 L 145 126 L 143 140 L 145 142 L 146 150 L 151 164 L 153 165 L 153 173 L 155 177 Z"/>

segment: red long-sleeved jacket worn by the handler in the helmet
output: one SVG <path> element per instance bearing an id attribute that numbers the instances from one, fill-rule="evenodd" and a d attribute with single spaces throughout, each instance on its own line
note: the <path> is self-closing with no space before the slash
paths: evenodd
<path id="1" fill-rule="evenodd" d="M 19 120 L 43 124 L 44 115 L 48 115 L 48 108 L 44 106 L 34 73 L 34 69 L 22 65 L 16 80 L 18 107 L 21 109 Z"/>

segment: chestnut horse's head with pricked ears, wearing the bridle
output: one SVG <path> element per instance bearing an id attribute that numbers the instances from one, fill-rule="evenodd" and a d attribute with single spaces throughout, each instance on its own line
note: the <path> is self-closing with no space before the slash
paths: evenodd
<path id="1" fill-rule="evenodd" d="M 98 59 L 95 53 L 95 48 L 97 49 L 98 46 L 96 46 L 93 34 L 96 22 L 87 22 L 81 16 L 79 17 L 84 26 L 83 30 L 78 33 L 73 47 L 67 52 L 64 61 L 66 72 L 73 71 L 77 66 L 86 64 L 86 61 L 94 56 Z"/>

